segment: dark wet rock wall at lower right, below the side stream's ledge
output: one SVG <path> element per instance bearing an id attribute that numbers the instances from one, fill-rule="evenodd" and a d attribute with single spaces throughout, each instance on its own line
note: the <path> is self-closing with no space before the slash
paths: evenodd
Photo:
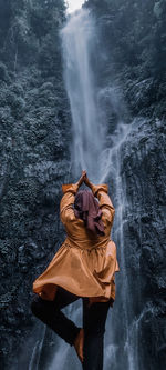
<path id="1" fill-rule="evenodd" d="M 145 369 L 147 359 L 149 369 L 164 369 L 166 360 L 165 138 L 164 120 L 139 119 L 122 148 L 125 261 Z"/>

